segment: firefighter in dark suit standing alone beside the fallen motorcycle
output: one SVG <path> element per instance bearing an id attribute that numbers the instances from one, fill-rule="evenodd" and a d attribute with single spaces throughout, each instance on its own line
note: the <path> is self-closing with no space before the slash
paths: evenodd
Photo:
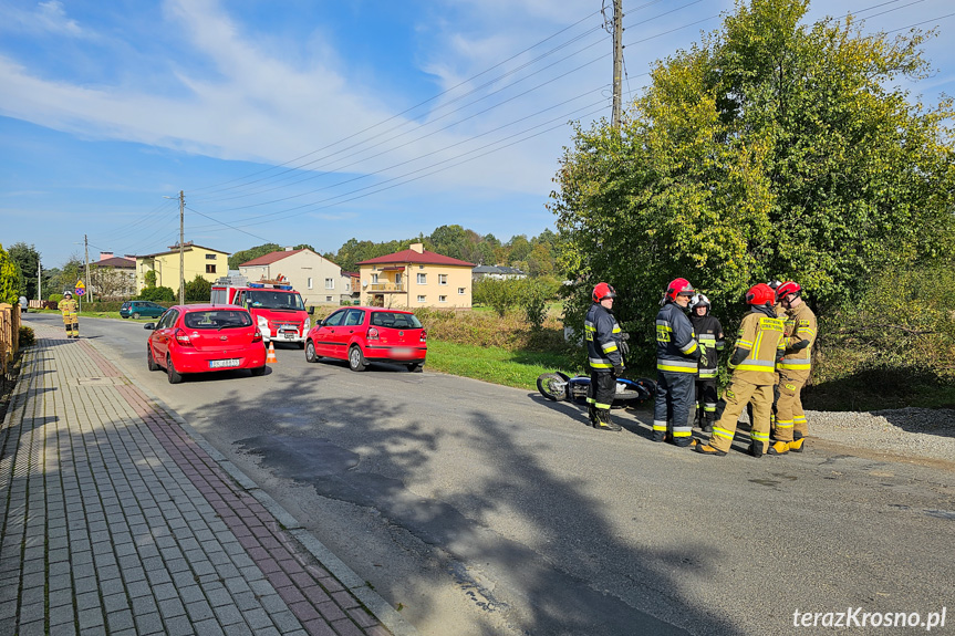
<path id="1" fill-rule="evenodd" d="M 583 331 L 587 336 L 587 363 L 590 387 L 587 407 L 590 425 L 599 430 L 621 430 L 610 419 L 610 406 L 616 394 L 616 378 L 623 375 L 622 333 L 613 315 L 616 291 L 606 283 L 593 288 L 593 304 L 587 312 Z"/>

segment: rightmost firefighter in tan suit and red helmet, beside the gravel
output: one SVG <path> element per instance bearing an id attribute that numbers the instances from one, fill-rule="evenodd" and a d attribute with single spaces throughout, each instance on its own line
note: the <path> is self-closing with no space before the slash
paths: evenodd
<path id="1" fill-rule="evenodd" d="M 802 301 L 802 288 L 788 281 L 776 290 L 786 310 L 786 350 L 779 363 L 779 403 L 776 414 L 776 444 L 770 455 L 802 452 L 809 427 L 802 410 L 802 387 L 812 369 L 812 343 L 816 342 L 816 314 Z"/>

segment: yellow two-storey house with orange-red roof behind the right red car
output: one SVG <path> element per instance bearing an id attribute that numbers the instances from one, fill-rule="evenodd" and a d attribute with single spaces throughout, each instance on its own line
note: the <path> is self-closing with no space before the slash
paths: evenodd
<path id="1" fill-rule="evenodd" d="M 361 304 L 394 309 L 470 309 L 471 270 L 413 243 L 408 249 L 357 263 Z"/>

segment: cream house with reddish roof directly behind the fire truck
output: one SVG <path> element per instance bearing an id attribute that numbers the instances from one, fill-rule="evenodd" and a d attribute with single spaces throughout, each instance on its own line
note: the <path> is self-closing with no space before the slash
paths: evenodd
<path id="1" fill-rule="evenodd" d="M 357 290 L 349 273 L 310 249 L 286 248 L 269 252 L 239 263 L 239 272 L 250 282 L 272 280 L 281 274 L 301 294 L 307 305 L 339 305 L 357 299 Z"/>

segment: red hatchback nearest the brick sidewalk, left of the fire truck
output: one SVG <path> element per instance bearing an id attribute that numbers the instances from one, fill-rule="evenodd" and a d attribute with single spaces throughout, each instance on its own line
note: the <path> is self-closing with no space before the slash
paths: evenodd
<path id="1" fill-rule="evenodd" d="M 165 367 L 169 384 L 187 373 L 248 368 L 266 373 L 266 345 L 249 312 L 238 306 L 176 305 L 159 317 L 146 345 L 149 371 Z"/>

